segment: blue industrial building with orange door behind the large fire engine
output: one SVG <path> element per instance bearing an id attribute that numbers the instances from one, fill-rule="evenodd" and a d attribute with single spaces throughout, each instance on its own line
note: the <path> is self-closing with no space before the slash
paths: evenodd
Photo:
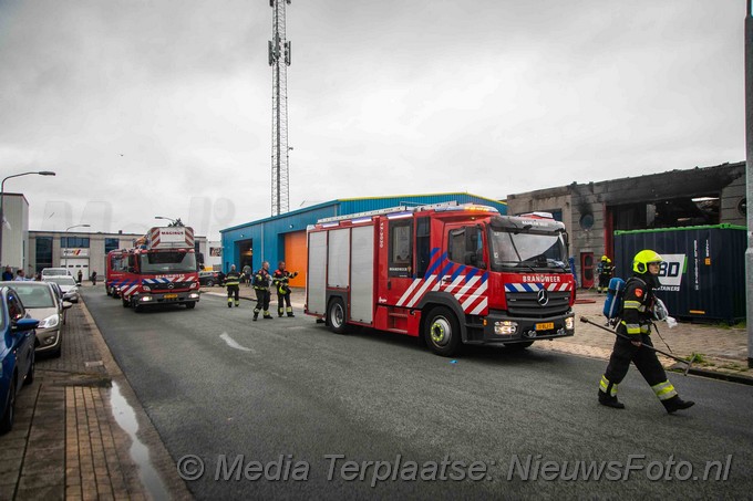
<path id="1" fill-rule="evenodd" d="M 333 216 L 367 212 L 389 207 L 421 206 L 448 201 L 491 206 L 503 215 L 507 213 L 507 206 L 504 201 L 464 192 L 331 200 L 220 230 L 223 271 L 228 271 L 231 264 L 235 264 L 239 270 L 246 264 L 258 270 L 261 268 L 262 261 L 269 261 L 270 268 L 274 270 L 278 261 L 286 261 L 288 270 L 299 272 L 299 275 L 291 280 L 290 284 L 292 286 L 306 286 L 307 226 L 316 223 L 319 219 Z"/>

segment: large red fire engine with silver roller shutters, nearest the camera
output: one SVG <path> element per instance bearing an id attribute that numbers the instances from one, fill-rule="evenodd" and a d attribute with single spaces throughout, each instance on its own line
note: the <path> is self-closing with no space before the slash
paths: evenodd
<path id="1" fill-rule="evenodd" d="M 327 218 L 308 253 L 306 313 L 337 333 L 423 335 L 444 356 L 575 333 L 565 225 L 540 213 L 442 203 Z"/>

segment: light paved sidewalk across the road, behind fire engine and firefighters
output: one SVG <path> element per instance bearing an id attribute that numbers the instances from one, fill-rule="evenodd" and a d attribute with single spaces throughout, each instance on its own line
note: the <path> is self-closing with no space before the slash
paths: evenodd
<path id="1" fill-rule="evenodd" d="M 226 296 L 224 288 L 203 288 L 203 293 Z M 240 296 L 245 300 L 256 301 L 254 288 L 240 285 Z M 608 359 L 611 354 L 615 337 L 597 326 L 580 322 L 581 316 L 602 324 L 606 319 L 601 314 L 605 294 L 594 291 L 578 291 L 578 302 L 575 305 L 576 334 L 555 341 L 540 341 L 533 348 L 551 349 L 574 355 L 588 356 L 591 358 Z M 290 298 L 297 314 L 302 313 L 306 293 L 303 289 L 292 289 Z M 272 294 L 269 311 L 276 316 L 277 295 Z M 699 354 L 702 359 L 693 363 L 693 367 L 719 374 L 753 378 L 753 370 L 747 369 L 747 332 L 744 327 L 728 327 L 720 324 L 703 324 L 681 322 L 674 328 L 669 328 L 666 323 L 657 323 L 659 335 L 652 333 L 653 345 L 662 351 L 672 353 L 679 357 L 690 357 Z M 662 338 L 664 342 L 662 342 Z M 669 348 L 668 348 L 669 346 Z M 666 367 L 675 366 L 677 362 L 660 355 L 660 361 Z M 683 366 L 684 368 L 684 366 Z M 751 379 L 753 383 L 753 379 Z"/>

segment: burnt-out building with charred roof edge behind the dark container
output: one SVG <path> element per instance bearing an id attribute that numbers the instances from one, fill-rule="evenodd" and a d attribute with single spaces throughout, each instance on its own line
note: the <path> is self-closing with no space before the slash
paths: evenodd
<path id="1" fill-rule="evenodd" d="M 507 197 L 507 213 L 545 211 L 570 234 L 582 288 L 596 265 L 615 255 L 615 231 L 746 225 L 745 163 L 539 189 Z"/>

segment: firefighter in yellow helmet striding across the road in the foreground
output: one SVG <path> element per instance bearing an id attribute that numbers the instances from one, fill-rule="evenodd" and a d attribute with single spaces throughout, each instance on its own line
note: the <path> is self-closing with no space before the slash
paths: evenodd
<path id="1" fill-rule="evenodd" d="M 604 406 L 625 408 L 617 399 L 617 385 L 628 374 L 630 362 L 636 364 L 668 413 L 687 409 L 694 404 L 680 398 L 674 386 L 667 379 L 667 373 L 659 363 L 656 352 L 640 346 L 641 343 L 653 346 L 650 336 L 653 325 L 653 290 L 660 285 L 658 275 L 662 261 L 661 255 L 652 250 L 642 250 L 633 259 L 633 275 L 628 279 L 625 286 L 621 320 L 617 326 L 617 333 L 630 340 L 617 337 L 615 341 L 607 372 L 599 383 L 599 404 Z"/>

